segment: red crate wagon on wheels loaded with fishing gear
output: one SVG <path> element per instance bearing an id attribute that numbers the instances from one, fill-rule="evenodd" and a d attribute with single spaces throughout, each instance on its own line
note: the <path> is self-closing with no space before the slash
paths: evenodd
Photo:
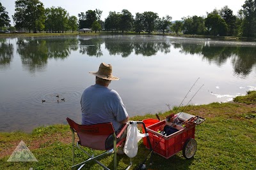
<path id="1" fill-rule="evenodd" d="M 190 159 L 195 155 L 197 144 L 195 141 L 195 127 L 204 122 L 205 118 L 190 115 L 188 113 L 177 113 L 178 123 L 175 124 L 177 132 L 164 136 L 161 131 L 166 125 L 165 120 L 147 127 L 150 143 L 155 153 L 168 159 L 182 150 L 183 156 Z M 150 148 L 149 143 L 144 143 Z"/>

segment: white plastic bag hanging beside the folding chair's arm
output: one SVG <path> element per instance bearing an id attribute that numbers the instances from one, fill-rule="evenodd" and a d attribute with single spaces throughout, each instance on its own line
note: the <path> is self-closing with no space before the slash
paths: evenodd
<path id="1" fill-rule="evenodd" d="M 128 157 L 133 158 L 138 153 L 138 141 L 140 141 L 141 138 L 148 136 L 148 134 L 141 134 L 137 128 L 137 122 L 131 122 L 132 124 L 130 124 L 127 127 L 127 136 L 124 145 L 124 153 Z"/>

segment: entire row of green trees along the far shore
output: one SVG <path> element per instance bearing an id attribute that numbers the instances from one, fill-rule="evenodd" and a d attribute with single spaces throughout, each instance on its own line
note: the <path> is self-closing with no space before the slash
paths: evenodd
<path id="1" fill-rule="evenodd" d="M 153 11 L 136 13 L 129 10 L 121 12 L 109 11 L 105 20 L 100 20 L 101 10 L 88 10 L 76 16 L 69 16 L 67 10 L 61 7 L 44 8 L 39 0 L 15 1 L 15 13 L 12 16 L 15 29 L 26 29 L 29 32 L 65 32 L 90 28 L 93 31 L 111 32 L 153 32 L 168 31 L 183 32 L 184 34 L 198 34 L 210 36 L 244 36 L 256 37 L 256 0 L 244 1 L 237 15 L 224 6 L 221 10 L 214 9 L 206 16 L 183 17 L 182 20 L 172 22 L 172 17 L 159 17 Z M 8 12 L 0 3 L 0 27 L 9 27 Z"/>

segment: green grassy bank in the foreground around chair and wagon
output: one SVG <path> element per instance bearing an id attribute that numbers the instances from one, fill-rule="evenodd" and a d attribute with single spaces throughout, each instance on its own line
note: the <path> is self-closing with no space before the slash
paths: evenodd
<path id="1" fill-rule="evenodd" d="M 198 148 L 193 159 L 187 160 L 178 153 L 170 159 L 153 156 L 153 164 L 148 169 L 255 169 L 256 168 L 256 92 L 236 97 L 233 103 L 211 103 L 188 106 L 186 113 L 206 118 L 196 126 L 195 139 Z M 180 108 L 182 110 L 182 108 Z M 171 111 L 172 113 L 175 111 Z M 170 112 L 159 114 L 164 119 Z M 155 115 L 132 117 L 131 120 L 156 118 Z M 19 142 L 23 140 L 38 162 L 7 162 Z M 0 169 L 70 169 L 71 132 L 68 125 L 38 127 L 30 134 L 24 132 L 0 133 Z M 149 151 L 140 141 L 138 155 L 133 159 L 135 169 L 145 159 Z M 76 151 L 76 162 L 84 160 L 84 155 Z M 113 167 L 113 157 L 102 159 L 109 168 Z M 118 155 L 118 167 L 124 169 L 129 158 Z M 90 164 L 84 169 L 99 169 Z"/>

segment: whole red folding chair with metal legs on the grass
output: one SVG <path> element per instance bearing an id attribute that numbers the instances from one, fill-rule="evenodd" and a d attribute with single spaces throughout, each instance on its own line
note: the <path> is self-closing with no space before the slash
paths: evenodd
<path id="1" fill-rule="evenodd" d="M 74 167 L 79 167 L 81 169 L 84 164 L 87 164 L 88 162 L 95 161 L 97 164 L 102 166 L 104 169 L 109 169 L 104 164 L 99 162 L 97 159 L 101 159 L 102 157 L 106 157 L 108 155 L 114 154 L 114 170 L 116 169 L 116 150 L 118 146 L 122 144 L 123 141 L 125 141 L 125 138 L 120 139 L 120 136 L 125 132 L 125 129 L 127 129 L 127 126 L 129 124 L 126 124 L 122 130 L 116 135 L 115 130 L 113 128 L 112 123 L 104 123 L 104 124 L 94 124 L 94 125 L 79 125 L 76 124 L 73 120 L 70 118 L 67 118 L 67 122 L 70 125 L 70 129 L 72 131 L 72 169 Z M 79 141 L 77 141 L 75 145 L 75 132 L 77 133 L 77 136 L 79 138 Z M 106 139 L 108 139 L 109 136 L 113 136 L 113 148 L 106 148 L 105 142 Z M 118 142 L 117 142 L 118 141 Z M 81 148 L 81 146 L 85 146 L 87 148 L 91 148 L 93 150 L 106 150 L 106 152 L 101 153 L 100 155 L 90 155 L 86 150 Z M 89 159 L 74 165 L 74 148 L 79 148 L 82 150 L 86 155 L 89 156 Z M 129 169 L 132 166 L 132 161 L 130 159 L 130 164 L 127 167 Z"/>

